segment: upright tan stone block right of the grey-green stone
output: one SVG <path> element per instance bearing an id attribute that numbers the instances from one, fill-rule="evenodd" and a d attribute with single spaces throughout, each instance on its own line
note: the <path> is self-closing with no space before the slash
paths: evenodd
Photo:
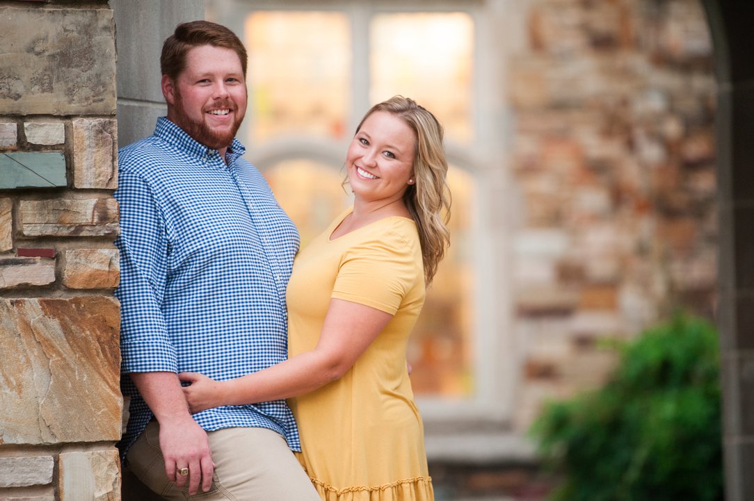
<path id="1" fill-rule="evenodd" d="M 118 127 L 115 120 L 73 121 L 73 185 L 75 188 L 118 187 Z"/>

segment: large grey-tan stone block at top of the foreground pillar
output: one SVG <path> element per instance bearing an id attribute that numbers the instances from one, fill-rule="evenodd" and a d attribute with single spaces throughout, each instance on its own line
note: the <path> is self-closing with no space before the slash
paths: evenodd
<path id="1" fill-rule="evenodd" d="M 0 32 L 0 115 L 115 115 L 112 11 L 2 6 Z"/>

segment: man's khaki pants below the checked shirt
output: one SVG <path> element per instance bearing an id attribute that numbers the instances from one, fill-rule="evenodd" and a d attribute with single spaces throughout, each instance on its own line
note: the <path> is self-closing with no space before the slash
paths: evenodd
<path id="1" fill-rule="evenodd" d="M 227 428 L 208 432 L 215 462 L 209 492 L 189 496 L 189 483 L 182 490 L 167 480 L 159 446 L 159 425 L 152 421 L 130 447 L 129 470 L 124 472 L 123 501 L 142 501 L 133 477 L 161 496 L 179 501 L 320 501 L 299 461 L 285 439 L 266 428 Z M 130 478 L 130 485 L 127 480 Z M 133 493 L 133 496 L 131 496 Z M 160 498 L 158 498 L 160 499 Z"/>

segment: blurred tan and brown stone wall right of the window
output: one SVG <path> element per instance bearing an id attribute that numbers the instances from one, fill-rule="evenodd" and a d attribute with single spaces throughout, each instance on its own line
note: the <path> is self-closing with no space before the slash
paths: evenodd
<path id="1" fill-rule="evenodd" d="M 713 47 L 699 0 L 527 0 L 509 64 L 516 429 L 599 384 L 600 338 L 713 317 Z"/>

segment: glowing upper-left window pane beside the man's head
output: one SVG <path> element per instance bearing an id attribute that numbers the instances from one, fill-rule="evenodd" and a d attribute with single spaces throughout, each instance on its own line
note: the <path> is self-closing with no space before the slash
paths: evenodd
<path id="1" fill-rule="evenodd" d="M 251 14 L 250 144 L 284 134 L 341 139 L 351 93 L 351 35 L 344 14 L 265 11 Z"/>

